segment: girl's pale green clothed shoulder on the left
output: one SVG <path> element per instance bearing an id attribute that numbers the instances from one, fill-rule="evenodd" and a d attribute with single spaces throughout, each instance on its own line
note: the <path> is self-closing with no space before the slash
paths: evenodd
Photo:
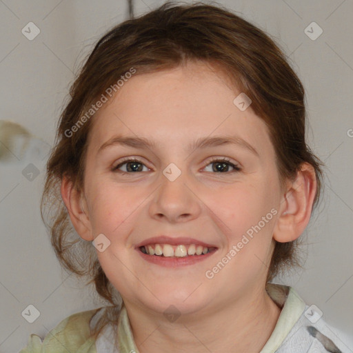
<path id="1" fill-rule="evenodd" d="M 31 334 L 27 347 L 19 353 L 96 353 L 94 340 L 90 337 L 90 320 L 99 310 L 77 312 L 63 319 L 41 340 Z"/>

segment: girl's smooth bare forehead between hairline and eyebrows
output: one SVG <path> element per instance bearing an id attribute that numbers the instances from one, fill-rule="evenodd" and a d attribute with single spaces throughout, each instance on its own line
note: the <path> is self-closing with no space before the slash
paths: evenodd
<path id="1" fill-rule="evenodd" d="M 116 134 L 171 143 L 213 134 L 237 134 L 261 150 L 270 143 L 265 123 L 250 108 L 239 110 L 240 94 L 225 76 L 203 63 L 134 74 L 92 118 L 95 150 Z"/>

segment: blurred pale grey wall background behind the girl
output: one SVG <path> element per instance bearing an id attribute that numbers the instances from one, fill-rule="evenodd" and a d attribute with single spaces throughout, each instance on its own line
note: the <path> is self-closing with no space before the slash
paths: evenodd
<path id="1" fill-rule="evenodd" d="M 39 212 L 45 165 L 74 74 L 94 43 L 164 2 L 0 0 L 0 352 L 19 352 L 30 334 L 43 338 L 70 314 L 102 305 L 54 256 Z M 305 86 L 307 139 L 327 165 L 325 190 L 302 235 L 304 270 L 274 282 L 319 307 L 353 352 L 353 1 L 218 3 L 268 32 Z M 28 305 L 39 312 L 33 323 Z"/>

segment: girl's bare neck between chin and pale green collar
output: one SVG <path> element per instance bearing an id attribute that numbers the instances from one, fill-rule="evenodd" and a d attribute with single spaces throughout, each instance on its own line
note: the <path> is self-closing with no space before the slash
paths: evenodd
<path id="1" fill-rule="evenodd" d="M 140 353 L 259 353 L 281 309 L 264 288 L 252 293 L 245 299 L 222 303 L 212 312 L 182 314 L 174 323 L 125 302 L 134 342 Z"/>

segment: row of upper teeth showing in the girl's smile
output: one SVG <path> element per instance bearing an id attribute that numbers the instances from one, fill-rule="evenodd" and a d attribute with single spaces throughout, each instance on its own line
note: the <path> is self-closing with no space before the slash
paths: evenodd
<path id="1" fill-rule="evenodd" d="M 145 250 L 145 251 L 143 251 Z M 173 247 L 170 244 L 151 244 L 142 247 L 142 251 L 149 255 L 163 255 L 167 257 L 183 257 L 188 255 L 201 255 L 210 252 L 209 248 L 202 245 L 177 245 Z"/>

